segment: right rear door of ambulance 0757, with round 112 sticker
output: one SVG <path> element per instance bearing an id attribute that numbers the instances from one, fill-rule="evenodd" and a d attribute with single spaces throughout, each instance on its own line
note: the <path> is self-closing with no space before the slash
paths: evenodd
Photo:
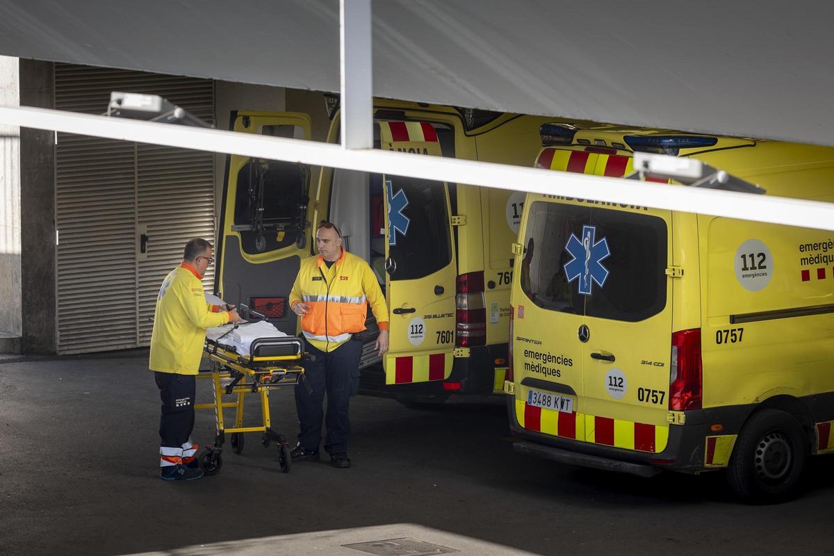
<path id="1" fill-rule="evenodd" d="M 585 441 L 659 453 L 669 435 L 671 213 L 590 209 L 565 244 L 574 293 L 587 286 Z"/>

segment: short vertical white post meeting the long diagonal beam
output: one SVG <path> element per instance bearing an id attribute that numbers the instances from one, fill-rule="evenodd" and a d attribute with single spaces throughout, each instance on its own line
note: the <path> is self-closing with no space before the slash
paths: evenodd
<path id="1" fill-rule="evenodd" d="M 340 0 L 343 148 L 374 148 L 370 0 Z"/>

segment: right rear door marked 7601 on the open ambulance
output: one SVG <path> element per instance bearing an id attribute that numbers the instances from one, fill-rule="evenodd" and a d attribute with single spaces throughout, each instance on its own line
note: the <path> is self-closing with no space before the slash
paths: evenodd
<path id="1" fill-rule="evenodd" d="M 430 123 L 379 122 L 380 148 L 441 156 Z M 446 183 L 384 175 L 385 293 L 390 347 L 385 383 L 449 378 L 455 348 L 455 278 Z"/>

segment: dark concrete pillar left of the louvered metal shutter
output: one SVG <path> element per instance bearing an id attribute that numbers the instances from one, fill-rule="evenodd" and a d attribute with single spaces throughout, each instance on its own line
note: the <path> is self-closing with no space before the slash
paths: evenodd
<path id="1" fill-rule="evenodd" d="M 51 62 L 20 60 L 20 103 L 55 108 Z M 55 133 L 20 130 L 23 353 L 56 353 Z"/>

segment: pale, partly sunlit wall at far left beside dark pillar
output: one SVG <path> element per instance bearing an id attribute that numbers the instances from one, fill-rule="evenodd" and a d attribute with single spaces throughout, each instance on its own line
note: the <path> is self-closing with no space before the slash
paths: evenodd
<path id="1" fill-rule="evenodd" d="M 0 56 L 0 106 L 18 106 L 18 58 Z M 20 128 L 0 124 L 0 333 L 20 336 Z"/>

